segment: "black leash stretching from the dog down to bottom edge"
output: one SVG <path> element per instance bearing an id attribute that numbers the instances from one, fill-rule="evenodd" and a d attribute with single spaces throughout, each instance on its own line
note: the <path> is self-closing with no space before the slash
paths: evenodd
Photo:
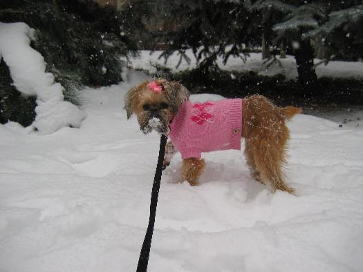
<path id="1" fill-rule="evenodd" d="M 142 243 L 138 268 L 136 269 L 137 272 L 147 271 L 147 263 L 149 262 L 151 240 L 153 239 L 153 224 L 155 223 L 156 206 L 158 206 L 158 195 L 159 195 L 160 180 L 162 174 L 162 162 L 164 160 L 166 144 L 167 144 L 167 136 L 162 134 L 160 138 L 158 165 L 156 166 L 155 177 L 153 178 L 153 189 L 151 191 L 149 224 L 147 225 L 145 239 L 144 242 Z"/>

